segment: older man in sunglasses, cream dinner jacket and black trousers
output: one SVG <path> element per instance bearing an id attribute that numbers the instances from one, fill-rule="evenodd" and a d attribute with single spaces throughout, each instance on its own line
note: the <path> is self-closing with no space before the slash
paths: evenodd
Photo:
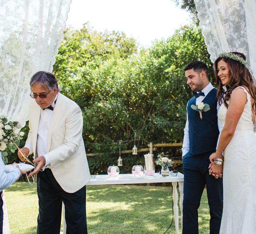
<path id="1" fill-rule="evenodd" d="M 35 101 L 30 105 L 29 133 L 22 151 L 27 155 L 34 153 L 33 162 L 37 163 L 29 174 L 38 173 L 37 233 L 60 233 L 62 202 L 66 233 L 87 233 L 85 185 L 90 172 L 82 138 L 81 109 L 58 92 L 52 73 L 35 73 L 30 86 Z"/>

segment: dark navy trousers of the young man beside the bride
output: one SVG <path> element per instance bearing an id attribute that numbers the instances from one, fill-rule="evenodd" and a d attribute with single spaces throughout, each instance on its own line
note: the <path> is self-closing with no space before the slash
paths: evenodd
<path id="1" fill-rule="evenodd" d="M 219 234 L 223 209 L 223 180 L 209 175 L 209 156 L 213 152 L 183 158 L 184 198 L 183 234 L 198 234 L 198 208 L 206 185 L 210 208 L 210 234 Z"/>

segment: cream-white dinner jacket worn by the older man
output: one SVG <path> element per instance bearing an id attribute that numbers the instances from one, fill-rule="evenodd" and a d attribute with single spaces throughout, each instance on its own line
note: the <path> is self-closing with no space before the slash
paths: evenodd
<path id="1" fill-rule="evenodd" d="M 29 110 L 29 133 L 26 144 L 32 145 L 34 158 L 37 158 L 37 132 L 41 108 L 34 101 Z M 82 137 L 83 116 L 74 101 L 61 93 L 53 110 L 46 143 L 50 168 L 59 185 L 68 193 L 74 193 L 90 180 Z"/>

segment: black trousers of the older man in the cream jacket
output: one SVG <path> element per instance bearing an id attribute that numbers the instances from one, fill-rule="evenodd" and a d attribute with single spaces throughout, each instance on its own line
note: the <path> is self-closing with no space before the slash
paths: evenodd
<path id="1" fill-rule="evenodd" d="M 65 205 L 67 234 L 87 234 L 86 189 L 65 192 L 55 180 L 50 168 L 38 173 L 37 194 L 39 214 L 37 234 L 59 234 L 62 202 Z"/>

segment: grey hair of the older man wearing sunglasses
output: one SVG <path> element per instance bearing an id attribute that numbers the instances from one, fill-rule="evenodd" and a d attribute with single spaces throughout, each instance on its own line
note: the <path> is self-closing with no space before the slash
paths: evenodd
<path id="1" fill-rule="evenodd" d="M 50 72 L 40 71 L 35 73 L 30 79 L 30 88 L 36 84 L 40 84 L 43 87 L 47 86 L 50 91 L 57 87 L 58 91 L 60 91 L 56 77 Z"/>

